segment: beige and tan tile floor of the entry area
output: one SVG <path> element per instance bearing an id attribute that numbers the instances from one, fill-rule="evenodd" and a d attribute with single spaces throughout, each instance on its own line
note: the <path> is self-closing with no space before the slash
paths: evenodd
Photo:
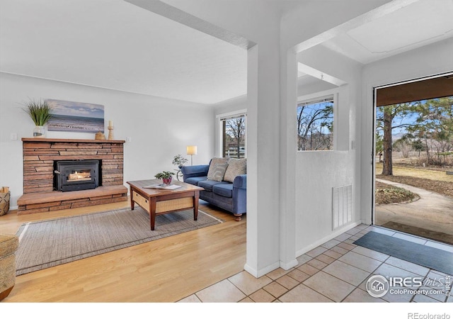
<path id="1" fill-rule="evenodd" d="M 374 274 L 411 278 L 418 276 L 423 277 L 423 281 L 430 279 L 433 285 L 441 282 L 447 284 L 445 280 L 449 278 L 449 275 L 433 269 L 353 244 L 370 230 L 453 252 L 453 246 L 443 245 L 440 242 L 432 242 L 385 228 L 358 225 L 298 257 L 299 264 L 292 269 L 286 271 L 281 268 L 275 269 L 258 279 L 243 271 L 178 302 L 453 302 L 453 296 L 448 297 L 445 293 L 429 296 L 414 293 L 386 293 L 382 298 L 370 296 L 366 290 L 366 282 Z M 451 286 L 453 285 L 450 284 Z M 445 291 L 445 285 L 442 289 Z M 451 288 L 447 290 L 453 293 Z"/>

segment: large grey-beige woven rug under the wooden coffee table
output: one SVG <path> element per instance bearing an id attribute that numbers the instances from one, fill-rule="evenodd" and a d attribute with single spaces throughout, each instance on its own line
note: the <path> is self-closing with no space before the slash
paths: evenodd
<path id="1" fill-rule="evenodd" d="M 193 210 L 156 216 L 151 230 L 149 215 L 137 207 L 25 223 L 16 235 L 16 275 L 103 254 L 151 240 L 222 223 L 202 211 L 193 220 Z"/>

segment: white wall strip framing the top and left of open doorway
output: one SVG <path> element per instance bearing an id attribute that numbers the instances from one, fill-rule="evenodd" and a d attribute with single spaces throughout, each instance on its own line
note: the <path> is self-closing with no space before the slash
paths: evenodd
<path id="1" fill-rule="evenodd" d="M 374 87 L 386 84 L 420 79 L 436 74 L 453 71 L 453 38 L 426 45 L 419 49 L 389 57 L 369 65 L 363 70 L 362 84 L 362 128 L 360 135 L 363 137 L 361 144 L 361 186 L 362 202 L 360 211 L 362 219 L 371 223 L 373 198 L 373 170 L 371 152 L 374 148 L 373 123 L 374 123 Z"/>

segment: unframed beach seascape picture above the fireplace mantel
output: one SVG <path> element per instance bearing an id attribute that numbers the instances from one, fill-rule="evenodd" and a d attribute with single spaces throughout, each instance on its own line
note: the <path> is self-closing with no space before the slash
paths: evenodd
<path id="1" fill-rule="evenodd" d="M 47 130 L 65 132 L 104 132 L 104 106 L 60 100 L 46 100 L 52 108 Z"/>

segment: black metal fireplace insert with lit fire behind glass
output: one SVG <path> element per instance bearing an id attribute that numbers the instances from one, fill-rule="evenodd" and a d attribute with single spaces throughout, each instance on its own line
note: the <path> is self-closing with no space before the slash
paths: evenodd
<path id="1" fill-rule="evenodd" d="M 55 161 L 56 191 L 83 191 L 101 185 L 99 160 Z"/>

